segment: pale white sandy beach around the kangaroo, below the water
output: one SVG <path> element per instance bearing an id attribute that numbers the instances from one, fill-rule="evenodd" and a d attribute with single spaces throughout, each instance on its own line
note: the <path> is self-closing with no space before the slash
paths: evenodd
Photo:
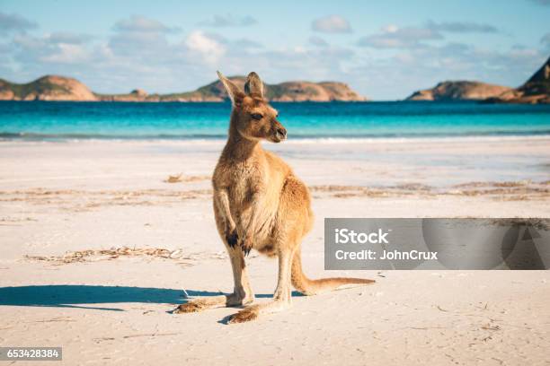
<path id="1" fill-rule="evenodd" d="M 377 283 L 242 325 L 172 314 L 232 290 L 209 181 L 223 142 L 4 141 L 0 344 L 67 364 L 550 363 L 547 271 L 324 271 L 323 240 L 325 217 L 550 217 L 549 137 L 265 145 L 314 197 L 306 274 Z M 269 301 L 276 261 L 248 262 Z"/>

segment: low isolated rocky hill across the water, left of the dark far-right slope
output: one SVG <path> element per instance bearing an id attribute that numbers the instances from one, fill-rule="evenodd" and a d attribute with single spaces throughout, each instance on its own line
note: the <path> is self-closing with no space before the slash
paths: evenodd
<path id="1" fill-rule="evenodd" d="M 479 82 L 443 82 L 431 89 L 413 92 L 406 100 L 485 100 L 512 89 Z"/>

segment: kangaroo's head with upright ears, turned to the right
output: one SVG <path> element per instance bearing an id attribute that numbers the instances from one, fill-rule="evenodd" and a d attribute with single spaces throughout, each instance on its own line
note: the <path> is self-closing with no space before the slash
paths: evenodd
<path id="1" fill-rule="evenodd" d="M 277 110 L 263 99 L 263 83 L 260 76 L 250 73 L 244 83 L 244 91 L 219 71 L 219 80 L 226 87 L 233 105 L 231 128 L 249 140 L 268 140 L 280 143 L 287 138 L 287 130 L 277 120 Z"/>

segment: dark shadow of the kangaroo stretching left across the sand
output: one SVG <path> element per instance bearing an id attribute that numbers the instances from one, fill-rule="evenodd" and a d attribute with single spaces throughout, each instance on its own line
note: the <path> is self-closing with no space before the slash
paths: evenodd
<path id="1" fill-rule="evenodd" d="M 190 297 L 217 296 L 222 292 L 186 290 Z M 257 294 L 257 298 L 271 298 L 272 294 Z M 189 301 L 183 290 L 154 287 L 97 286 L 55 284 L 37 286 L 0 287 L 0 306 L 43 306 L 55 308 L 82 308 L 123 311 L 118 308 L 84 306 L 114 303 L 181 304 Z"/>

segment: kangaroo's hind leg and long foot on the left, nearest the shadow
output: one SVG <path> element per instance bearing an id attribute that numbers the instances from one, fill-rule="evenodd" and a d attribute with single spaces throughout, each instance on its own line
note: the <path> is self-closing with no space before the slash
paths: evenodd
<path id="1" fill-rule="evenodd" d="M 203 297 L 197 300 L 186 302 L 176 309 L 174 313 L 197 312 L 204 309 L 225 308 L 231 306 L 240 306 L 250 304 L 254 301 L 254 294 L 248 282 L 246 273 L 246 264 L 244 262 L 243 250 L 239 247 L 230 247 L 226 244 L 231 267 L 233 269 L 233 279 L 235 287 L 233 293 L 219 296 Z"/>

